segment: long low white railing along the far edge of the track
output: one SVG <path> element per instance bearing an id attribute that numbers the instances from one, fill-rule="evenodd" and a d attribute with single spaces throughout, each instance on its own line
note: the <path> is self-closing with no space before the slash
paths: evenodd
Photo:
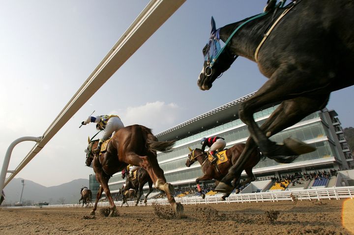
<path id="1" fill-rule="evenodd" d="M 200 205 L 200 204 L 230 204 L 230 203 L 251 203 L 251 202 L 279 202 L 279 201 L 304 201 L 304 200 L 322 200 L 322 199 L 344 199 L 344 198 L 354 198 L 354 186 L 348 187 L 332 187 L 332 188 L 314 188 L 314 189 L 303 189 L 298 191 L 268 191 L 268 192 L 258 192 L 258 193 L 242 193 L 235 194 L 232 193 L 225 201 L 222 201 L 222 194 L 216 194 L 212 196 L 206 196 L 202 199 L 198 196 L 193 197 L 175 197 L 176 202 L 180 202 L 184 205 Z M 293 197 L 292 197 L 293 196 Z M 121 201 L 115 201 L 117 207 L 120 207 Z M 127 204 L 131 207 L 135 205 L 135 201 L 128 201 Z M 124 207 L 127 206 L 126 203 L 123 204 Z M 152 206 L 153 204 L 159 205 L 170 205 L 166 198 L 161 199 L 149 199 L 147 206 Z M 71 208 L 71 207 L 81 207 L 82 204 L 65 204 L 65 205 L 48 205 L 48 206 L 26 206 L 26 207 L 11 207 L 15 208 Z M 90 205 L 92 207 L 93 204 Z M 98 203 L 99 207 L 109 207 L 109 202 Z M 138 206 L 145 206 L 143 201 L 141 201 Z"/>

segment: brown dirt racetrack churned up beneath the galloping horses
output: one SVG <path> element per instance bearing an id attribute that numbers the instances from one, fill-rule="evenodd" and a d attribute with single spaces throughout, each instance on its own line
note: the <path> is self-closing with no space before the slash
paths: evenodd
<path id="1" fill-rule="evenodd" d="M 104 208 L 90 216 L 90 209 L 1 208 L 0 234 L 349 235 L 354 231 L 353 199 L 184 205 L 182 218 L 169 206 L 118 207 L 117 217 L 105 217 Z"/>

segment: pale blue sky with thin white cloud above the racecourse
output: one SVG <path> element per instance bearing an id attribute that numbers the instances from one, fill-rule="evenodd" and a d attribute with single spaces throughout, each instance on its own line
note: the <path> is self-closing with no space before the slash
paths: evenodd
<path id="1" fill-rule="evenodd" d="M 41 136 L 148 0 L 0 0 L 0 164 L 8 146 Z M 89 179 L 85 165 L 89 114 L 117 114 L 125 126 L 154 134 L 258 90 L 266 81 L 257 64 L 237 58 L 213 87 L 202 91 L 202 49 L 216 27 L 261 13 L 266 0 L 187 0 L 84 104 L 16 175 L 44 186 Z M 327 104 L 342 127 L 354 127 L 354 87 L 333 92 Z M 15 169 L 34 142 L 14 148 Z M 7 175 L 8 176 L 8 175 Z"/>

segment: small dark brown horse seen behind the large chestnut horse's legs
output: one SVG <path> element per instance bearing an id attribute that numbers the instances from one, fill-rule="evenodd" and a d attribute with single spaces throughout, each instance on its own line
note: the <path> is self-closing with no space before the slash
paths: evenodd
<path id="1" fill-rule="evenodd" d="M 122 178 L 124 179 L 126 177 L 126 175 L 127 175 L 127 172 L 124 171 L 124 173 L 122 173 Z M 151 180 L 147 170 L 145 170 L 144 168 L 139 168 L 136 170 L 136 178 L 135 179 L 132 179 L 130 176 L 128 176 L 125 179 L 125 186 L 122 188 L 122 192 L 129 190 L 129 189 L 135 189 L 136 197 L 137 197 L 137 201 L 135 203 L 135 206 L 138 206 L 140 198 L 143 195 L 143 187 L 146 183 L 148 183 L 148 186 L 149 186 L 149 191 L 148 191 L 147 195 L 145 195 L 145 198 L 144 198 L 144 204 L 146 205 L 148 203 L 148 195 L 152 192 L 152 180 Z M 124 203 L 124 199 L 125 199 L 124 193 L 122 193 L 122 195 L 123 195 L 123 203 Z M 123 205 L 123 203 L 121 204 L 121 206 Z"/>

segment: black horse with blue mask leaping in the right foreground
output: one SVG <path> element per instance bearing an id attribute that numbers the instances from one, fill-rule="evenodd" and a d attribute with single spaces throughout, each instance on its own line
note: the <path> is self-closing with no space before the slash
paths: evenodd
<path id="1" fill-rule="evenodd" d="M 284 144 L 268 138 L 323 109 L 332 91 L 354 84 L 353 15 L 351 0 L 297 0 L 285 7 L 277 4 L 269 11 L 219 29 L 211 19 L 199 88 L 209 90 L 237 56 L 255 61 L 268 78 L 239 106 L 239 118 L 248 126 L 250 136 L 217 191 L 234 189 L 239 182 L 237 176 L 257 147 L 267 157 L 295 158 L 316 150 L 294 138 L 284 139 Z M 225 42 L 223 48 L 219 39 Z M 274 103 L 280 105 L 259 127 L 253 113 Z"/>

